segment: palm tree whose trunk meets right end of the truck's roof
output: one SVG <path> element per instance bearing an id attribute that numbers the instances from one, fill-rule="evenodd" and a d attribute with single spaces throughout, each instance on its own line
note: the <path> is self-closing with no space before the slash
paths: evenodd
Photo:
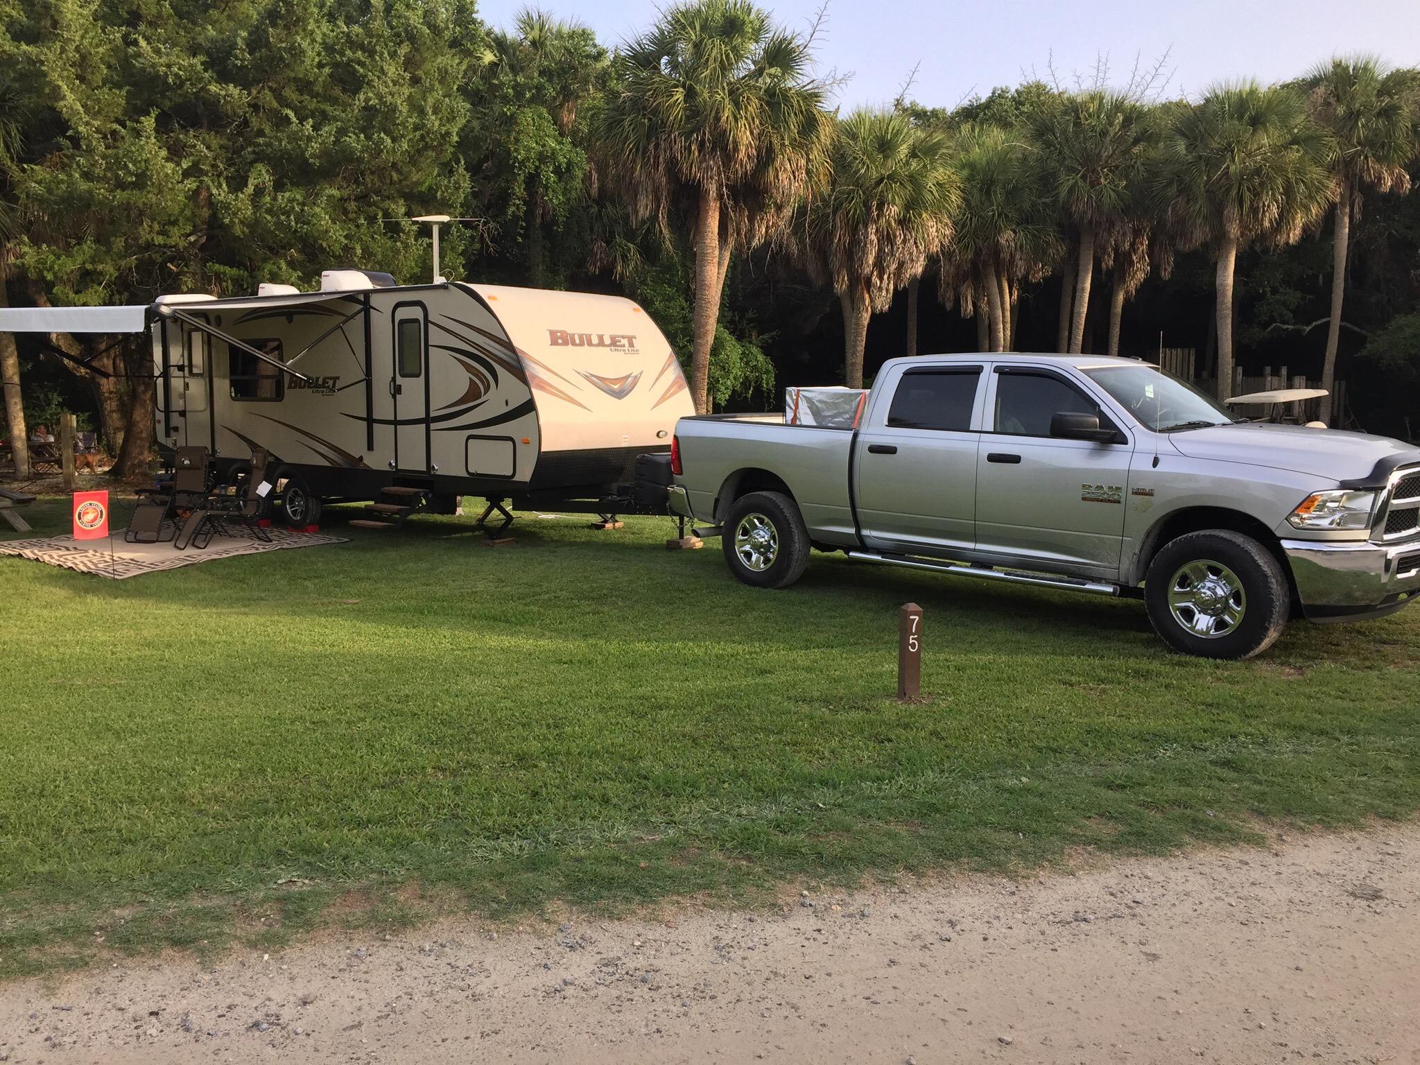
<path id="1" fill-rule="evenodd" d="M 1095 253 L 1113 237 L 1130 202 L 1130 186 L 1149 143 L 1149 112 L 1118 92 L 1092 89 L 1065 95 L 1031 115 L 1032 132 L 1047 160 L 1049 193 L 1066 226 L 1078 233 L 1075 297 L 1069 351 L 1085 339 Z"/>

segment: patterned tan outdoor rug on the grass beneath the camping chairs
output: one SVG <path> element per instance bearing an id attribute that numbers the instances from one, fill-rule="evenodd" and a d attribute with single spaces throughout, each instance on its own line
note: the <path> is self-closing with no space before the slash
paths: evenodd
<path id="1" fill-rule="evenodd" d="M 320 544 L 344 544 L 345 537 L 328 537 L 322 532 L 288 532 L 284 528 L 268 528 L 271 542 L 263 544 L 243 531 L 234 537 L 213 537 L 206 548 L 175 551 L 172 544 L 125 544 L 124 534 L 108 540 L 75 541 L 74 537 L 45 537 L 43 540 L 0 540 L 0 555 L 18 555 L 37 562 L 78 569 L 81 574 L 111 577 L 122 581 L 139 574 L 155 574 L 159 569 L 176 569 L 197 562 L 212 562 L 234 555 L 254 555 L 261 551 L 280 551 L 288 547 L 318 547 Z"/>

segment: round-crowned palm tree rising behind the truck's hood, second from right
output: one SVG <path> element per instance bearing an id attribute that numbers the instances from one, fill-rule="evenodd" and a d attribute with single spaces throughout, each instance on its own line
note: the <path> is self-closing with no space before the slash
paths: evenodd
<path id="1" fill-rule="evenodd" d="M 1216 261 L 1218 399 L 1233 393 L 1233 274 L 1240 250 L 1295 244 L 1332 203 L 1329 138 L 1302 95 L 1257 82 L 1172 112 L 1156 193 L 1183 247 Z"/>

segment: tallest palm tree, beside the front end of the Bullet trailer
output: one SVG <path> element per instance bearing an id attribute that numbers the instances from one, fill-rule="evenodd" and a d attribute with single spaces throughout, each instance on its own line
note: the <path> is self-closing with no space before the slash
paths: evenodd
<path id="1" fill-rule="evenodd" d="M 632 222 L 694 219 L 696 410 L 733 247 L 763 241 L 822 179 L 834 124 L 812 67 L 812 34 L 777 27 L 750 0 L 673 6 L 613 61 L 596 132 L 608 178 Z"/>

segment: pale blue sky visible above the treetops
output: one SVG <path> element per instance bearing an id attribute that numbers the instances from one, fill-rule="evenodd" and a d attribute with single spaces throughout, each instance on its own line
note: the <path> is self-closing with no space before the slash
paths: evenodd
<path id="1" fill-rule="evenodd" d="M 761 0 L 780 21 L 807 28 L 818 0 Z M 481 0 L 481 16 L 510 26 L 527 0 Z M 609 45 L 656 18 L 656 0 L 537 0 L 575 18 Z M 1420 0 L 829 0 L 821 36 L 822 68 L 852 77 L 838 102 L 890 104 L 920 62 L 910 97 L 954 106 L 1022 77 L 1075 84 L 1153 70 L 1169 95 L 1197 95 L 1208 85 L 1255 77 L 1282 81 L 1333 54 L 1367 53 L 1394 65 L 1420 65 Z"/>

